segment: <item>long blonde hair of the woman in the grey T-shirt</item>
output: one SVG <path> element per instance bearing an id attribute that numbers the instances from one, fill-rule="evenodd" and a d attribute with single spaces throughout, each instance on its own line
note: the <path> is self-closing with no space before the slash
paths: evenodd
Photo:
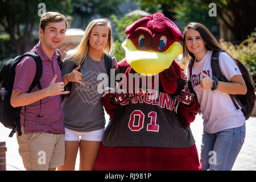
<path id="1" fill-rule="evenodd" d="M 79 65 L 84 61 L 88 49 L 89 49 L 89 36 L 90 36 L 90 31 L 94 26 L 106 26 L 109 28 L 109 36 L 108 36 L 108 44 L 106 47 L 103 49 L 103 52 L 109 55 L 112 53 L 112 48 L 114 46 L 113 39 L 112 39 L 112 28 L 111 28 L 111 23 L 109 19 L 107 18 L 101 18 L 101 19 L 94 19 L 92 20 L 88 26 L 85 29 L 84 36 L 82 37 L 82 40 L 80 44 L 75 48 L 67 51 L 67 59 L 72 59 L 76 65 Z"/>

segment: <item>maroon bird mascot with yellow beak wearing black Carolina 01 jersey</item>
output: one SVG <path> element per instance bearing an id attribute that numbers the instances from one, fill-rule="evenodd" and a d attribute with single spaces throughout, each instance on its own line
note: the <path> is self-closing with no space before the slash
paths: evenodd
<path id="1" fill-rule="evenodd" d="M 131 24 L 126 34 L 126 57 L 115 69 L 115 81 L 133 98 L 122 104 L 113 104 L 113 93 L 103 98 L 110 122 L 94 169 L 200 170 L 189 129 L 199 105 L 192 96 L 190 104 L 175 99 L 187 89 L 184 69 L 174 60 L 182 51 L 181 32 L 155 13 Z M 130 77 L 135 74 L 140 77 Z"/>

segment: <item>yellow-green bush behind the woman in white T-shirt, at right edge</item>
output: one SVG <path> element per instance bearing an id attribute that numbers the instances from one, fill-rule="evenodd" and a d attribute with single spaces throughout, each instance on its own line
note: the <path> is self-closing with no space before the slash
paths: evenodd
<path id="1" fill-rule="evenodd" d="M 240 60 L 249 68 L 256 86 L 256 37 L 248 36 L 241 44 L 234 46 L 230 42 L 220 40 L 221 46 L 234 58 Z"/>

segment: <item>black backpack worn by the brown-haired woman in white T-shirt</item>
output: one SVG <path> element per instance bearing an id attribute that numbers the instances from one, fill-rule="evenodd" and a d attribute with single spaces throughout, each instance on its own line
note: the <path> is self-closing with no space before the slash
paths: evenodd
<path id="1" fill-rule="evenodd" d="M 210 66 L 212 68 L 213 76 L 216 77 L 220 81 L 229 82 L 228 79 L 223 75 L 223 73 L 221 71 L 220 63 L 218 60 L 219 55 L 220 55 L 220 51 L 213 51 L 213 53 L 212 53 L 212 58 L 210 60 Z M 242 107 L 241 110 L 243 112 L 243 115 L 245 115 L 245 120 L 247 120 L 247 119 L 249 119 L 249 117 L 253 111 L 254 103 L 256 100 L 253 78 L 249 72 L 249 69 L 243 63 L 241 63 L 240 60 L 238 60 L 238 59 L 234 59 L 234 60 L 236 61 L 236 64 L 237 64 L 238 68 L 240 69 L 243 80 L 245 81 L 247 93 L 245 95 L 229 94 L 229 96 L 237 110 L 240 109 L 238 104 Z M 188 64 L 190 77 L 192 75 L 192 67 L 193 67 L 194 63 L 195 63 L 195 59 L 191 59 L 191 61 L 189 61 L 189 64 Z M 191 81 L 189 81 L 189 89 L 192 91 L 193 94 L 195 94 L 195 91 L 192 88 Z M 195 96 L 196 96 L 196 94 L 195 94 Z"/>

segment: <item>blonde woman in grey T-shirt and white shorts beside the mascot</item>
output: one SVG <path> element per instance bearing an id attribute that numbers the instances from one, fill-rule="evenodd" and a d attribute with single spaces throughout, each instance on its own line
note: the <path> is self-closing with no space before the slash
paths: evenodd
<path id="1" fill-rule="evenodd" d="M 79 46 L 67 52 L 63 61 L 63 82 L 72 83 L 69 97 L 63 100 L 65 162 L 59 170 L 75 170 L 80 151 L 80 170 L 92 170 L 105 130 L 102 94 L 98 75 L 107 73 L 105 56 L 112 52 L 112 29 L 108 19 L 88 24 Z M 74 69 L 74 66 L 77 66 Z M 117 61 L 112 57 L 112 68 Z"/>

